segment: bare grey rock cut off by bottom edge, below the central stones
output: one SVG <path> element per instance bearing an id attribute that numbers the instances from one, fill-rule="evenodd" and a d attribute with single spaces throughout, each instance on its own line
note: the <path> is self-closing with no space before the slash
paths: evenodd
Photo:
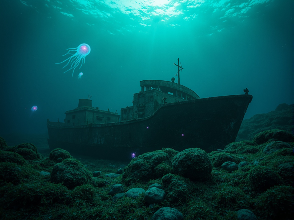
<path id="1" fill-rule="evenodd" d="M 177 209 L 163 207 L 153 214 L 151 220 L 184 220 L 184 216 Z"/>

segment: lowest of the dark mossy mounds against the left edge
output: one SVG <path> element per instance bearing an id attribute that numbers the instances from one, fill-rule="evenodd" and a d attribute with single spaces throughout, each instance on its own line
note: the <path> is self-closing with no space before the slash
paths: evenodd
<path id="1" fill-rule="evenodd" d="M 0 183 L 5 181 L 17 185 L 23 181 L 26 174 L 26 169 L 23 166 L 10 162 L 0 163 Z"/>

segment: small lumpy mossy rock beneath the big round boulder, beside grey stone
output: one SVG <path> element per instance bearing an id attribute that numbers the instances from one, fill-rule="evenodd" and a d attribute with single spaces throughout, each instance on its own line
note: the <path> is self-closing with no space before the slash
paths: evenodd
<path id="1" fill-rule="evenodd" d="M 190 194 L 188 190 L 189 179 L 174 174 L 166 174 L 162 178 L 163 189 L 167 193 L 166 199 L 172 203 L 185 202 Z"/>

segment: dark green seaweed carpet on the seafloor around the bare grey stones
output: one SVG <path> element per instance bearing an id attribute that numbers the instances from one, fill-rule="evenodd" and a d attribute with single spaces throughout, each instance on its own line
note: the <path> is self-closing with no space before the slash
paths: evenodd
<path id="1" fill-rule="evenodd" d="M 257 134 L 253 141 L 234 142 L 223 151 L 209 153 L 212 171 L 201 181 L 173 174 L 172 157 L 160 163 L 160 169 L 156 164 L 156 168 L 152 168 L 150 161 L 161 162 L 158 155 L 172 149 L 137 157 L 133 161 L 137 166 L 141 163 L 141 167 L 136 176 L 132 176 L 131 161 L 121 176 L 111 179 L 104 174 L 116 173 L 125 162 L 90 158 L 77 161 L 61 149 L 58 154 L 55 150 L 45 157 L 34 144 L 11 147 L 3 138 L 0 147 L 1 219 L 151 219 L 159 208 L 166 206 L 176 208 L 184 219 L 237 219 L 236 211 L 240 209 L 249 209 L 258 219 L 280 219 L 281 216 L 290 219 L 293 210 L 293 136 L 287 131 L 265 131 Z M 149 164 L 144 158 L 149 158 Z M 45 171 L 52 176 L 54 166 L 65 160 L 75 164 L 76 177 L 85 172 L 92 175 L 93 171 L 101 171 L 101 175 L 90 176 L 86 182 L 71 186 L 54 183 L 50 175 L 39 173 Z M 226 161 L 236 164 L 246 161 L 248 165 L 226 171 L 221 169 Z M 151 169 L 141 171 L 144 166 Z M 146 174 L 149 175 L 147 181 Z M 172 183 L 166 183 L 166 179 Z M 115 201 L 108 195 L 114 184 L 122 184 L 128 191 L 134 187 L 146 190 L 154 183 L 162 184 L 167 194 L 165 200 L 155 206 L 149 207 L 143 194 Z"/>

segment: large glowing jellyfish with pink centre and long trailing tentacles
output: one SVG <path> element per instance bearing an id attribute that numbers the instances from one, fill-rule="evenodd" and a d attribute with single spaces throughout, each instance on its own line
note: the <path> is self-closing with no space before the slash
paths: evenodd
<path id="1" fill-rule="evenodd" d="M 84 61 L 84 63 L 85 63 L 85 57 L 90 53 L 90 51 L 91 51 L 91 48 L 90 48 L 90 46 L 88 45 L 88 44 L 80 44 L 78 47 L 76 47 L 76 48 L 69 48 L 69 49 L 67 49 L 67 50 L 69 50 L 66 54 L 64 54 L 63 56 L 65 56 L 65 55 L 67 55 L 67 54 L 71 54 L 72 56 L 70 56 L 69 58 L 67 58 L 66 60 L 64 60 L 64 61 L 62 61 L 61 63 L 56 63 L 56 64 L 62 64 L 63 62 L 65 62 L 65 61 L 67 61 L 67 60 L 69 60 L 68 62 L 67 62 L 67 64 L 64 66 L 64 67 L 66 67 L 67 65 L 71 65 L 71 68 L 70 69 L 68 69 L 68 70 L 66 70 L 64 73 L 66 73 L 67 71 L 69 71 L 69 70 L 71 70 L 71 69 L 76 69 L 76 67 L 78 66 L 78 65 L 80 65 L 80 63 L 81 63 L 81 66 L 80 66 L 80 68 L 82 67 L 82 65 L 83 65 L 83 61 Z M 70 52 L 75 52 L 75 54 L 72 54 L 72 53 L 70 53 Z M 63 68 L 64 68 L 63 67 Z M 63 69 L 62 68 L 62 69 Z M 79 68 L 79 69 L 80 69 Z M 74 76 L 74 70 L 73 70 L 73 74 L 72 74 L 72 76 Z"/>

